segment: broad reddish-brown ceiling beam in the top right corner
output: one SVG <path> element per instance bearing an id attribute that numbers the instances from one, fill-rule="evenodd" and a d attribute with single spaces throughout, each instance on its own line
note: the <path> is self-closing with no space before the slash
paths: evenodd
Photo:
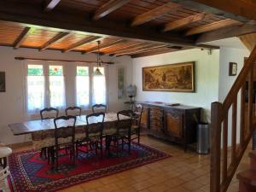
<path id="1" fill-rule="evenodd" d="M 256 20 L 256 2 L 254 0 L 195 0 L 194 2 L 202 3 L 233 15 L 240 15 L 249 20 Z"/>

